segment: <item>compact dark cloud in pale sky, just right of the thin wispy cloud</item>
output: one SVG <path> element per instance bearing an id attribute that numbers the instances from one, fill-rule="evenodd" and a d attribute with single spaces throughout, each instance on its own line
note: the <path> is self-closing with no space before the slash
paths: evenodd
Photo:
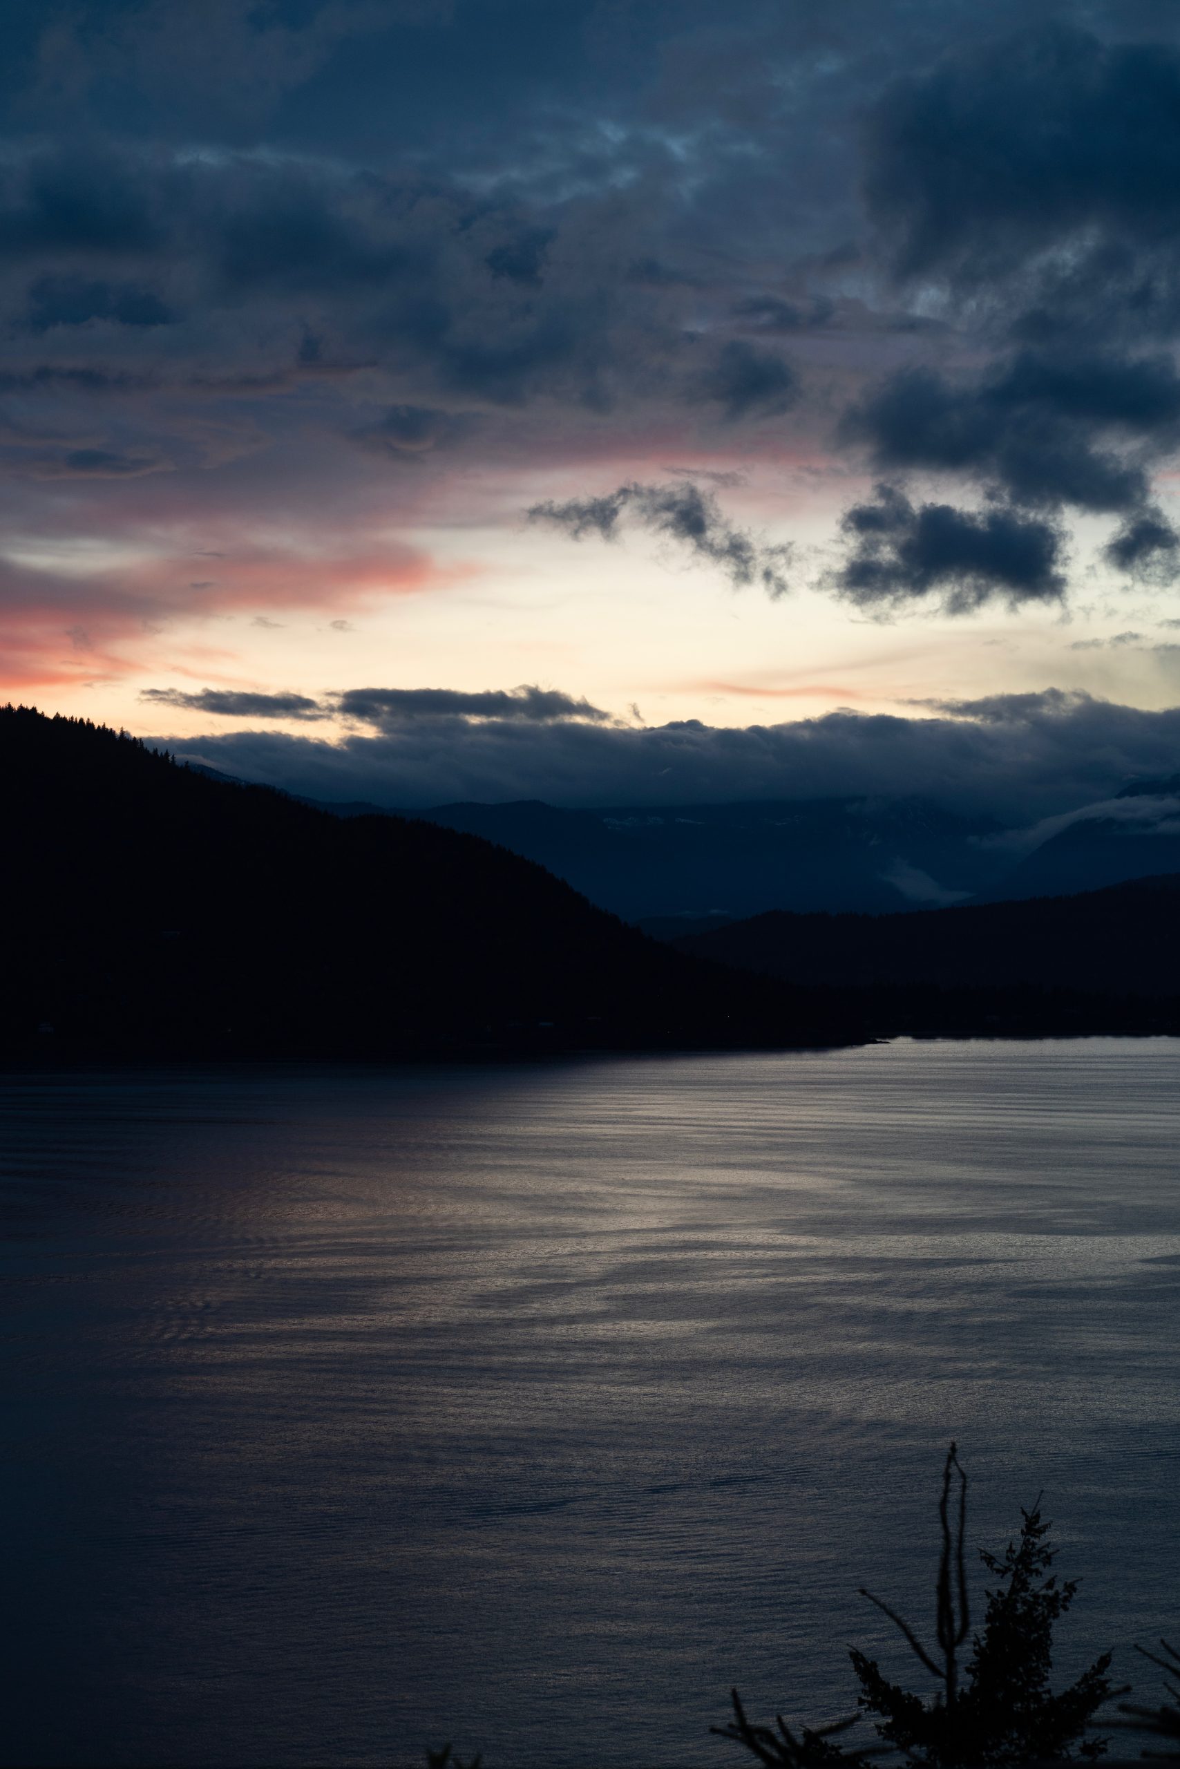
<path id="1" fill-rule="evenodd" d="M 941 598 L 946 614 L 987 601 L 1019 607 L 1065 593 L 1061 538 L 1042 518 L 1015 509 L 954 509 L 911 501 L 892 485 L 842 520 L 849 552 L 833 587 L 862 609 Z"/>

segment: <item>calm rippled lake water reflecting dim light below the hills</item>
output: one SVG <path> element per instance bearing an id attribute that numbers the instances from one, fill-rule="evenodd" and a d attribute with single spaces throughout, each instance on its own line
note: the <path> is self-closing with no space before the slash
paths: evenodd
<path id="1" fill-rule="evenodd" d="M 931 1608 L 1180 1627 L 1180 1042 L 0 1081 L 4 1762 L 732 1764 Z M 1173 1633 L 1175 1638 L 1175 1633 Z M 902 1649 L 904 1652 L 904 1649 Z M 1153 1691 L 1152 1672 L 1146 1691 Z M 738 1758 L 743 1760 L 743 1758 Z"/>

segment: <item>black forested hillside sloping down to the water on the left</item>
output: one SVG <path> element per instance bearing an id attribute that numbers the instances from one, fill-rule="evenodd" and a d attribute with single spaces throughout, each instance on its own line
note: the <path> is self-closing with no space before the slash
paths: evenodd
<path id="1" fill-rule="evenodd" d="M 823 1007 L 656 945 L 453 830 L 341 819 L 0 709 L 9 1053 L 808 1044 Z M 41 1028 L 41 1030 L 39 1030 Z"/>

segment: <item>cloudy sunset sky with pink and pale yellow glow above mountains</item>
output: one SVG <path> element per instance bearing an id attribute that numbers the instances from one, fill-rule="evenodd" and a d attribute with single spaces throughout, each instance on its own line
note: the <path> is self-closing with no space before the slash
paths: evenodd
<path id="1" fill-rule="evenodd" d="M 5 697 L 407 807 L 1180 770 L 1171 0 L 5 50 Z"/>

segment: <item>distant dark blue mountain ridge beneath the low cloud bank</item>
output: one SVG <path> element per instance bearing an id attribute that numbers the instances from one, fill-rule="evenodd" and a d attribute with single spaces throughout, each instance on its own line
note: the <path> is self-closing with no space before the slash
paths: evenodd
<path id="1" fill-rule="evenodd" d="M 568 808 L 541 800 L 391 812 L 301 800 L 336 817 L 403 816 L 533 860 L 660 938 L 674 923 L 922 911 L 1074 895 L 1180 872 L 1180 775 L 1125 784 L 1038 840 L 920 798 L 865 796 Z"/>

